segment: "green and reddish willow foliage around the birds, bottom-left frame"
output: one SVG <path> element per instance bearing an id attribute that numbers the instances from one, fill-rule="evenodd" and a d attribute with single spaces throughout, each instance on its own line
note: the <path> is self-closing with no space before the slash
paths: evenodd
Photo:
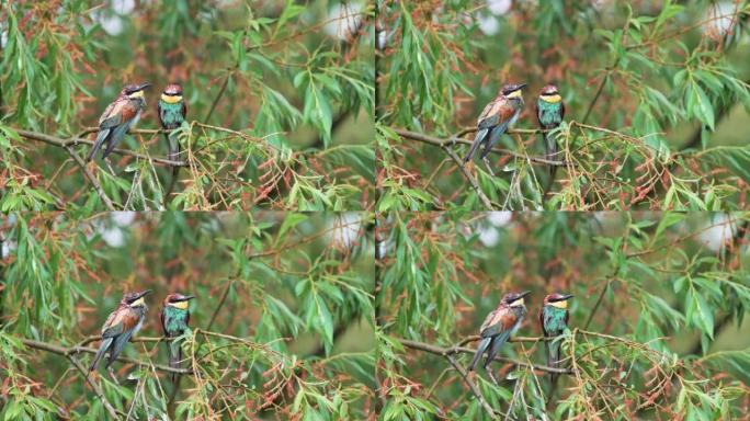
<path id="1" fill-rule="evenodd" d="M 371 217 L 365 214 L 63 214 L 0 219 L 0 419 L 105 419 L 102 401 L 59 355 L 98 334 L 124 292 L 154 289 L 136 341 L 95 375 L 136 419 L 362 419 L 372 407 Z M 192 374 L 174 388 L 161 299 L 194 294 L 181 338 Z M 23 414 L 23 417 L 22 417 Z M 292 416 L 296 414 L 296 416 Z M 295 418 L 296 417 L 296 418 Z M 124 419 L 124 417 L 123 417 Z"/>

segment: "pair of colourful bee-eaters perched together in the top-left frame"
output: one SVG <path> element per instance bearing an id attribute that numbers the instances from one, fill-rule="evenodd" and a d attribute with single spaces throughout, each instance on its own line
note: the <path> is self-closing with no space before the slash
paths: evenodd
<path id="1" fill-rule="evenodd" d="M 120 95 L 99 117 L 99 133 L 87 161 L 91 161 L 96 151 L 105 146 L 102 159 L 114 150 L 125 134 L 140 120 L 140 113 L 146 109 L 144 90 L 151 83 L 127 84 L 120 91 Z M 164 88 L 158 105 L 159 123 L 164 129 L 172 130 L 182 125 L 188 114 L 188 106 L 182 98 L 182 87 L 170 83 Z M 168 158 L 177 161 L 180 155 L 180 144 L 172 133 L 166 133 L 164 139 L 169 147 Z"/>

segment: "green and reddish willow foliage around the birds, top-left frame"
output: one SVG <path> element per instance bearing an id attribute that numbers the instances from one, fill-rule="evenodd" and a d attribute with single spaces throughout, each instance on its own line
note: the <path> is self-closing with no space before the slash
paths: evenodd
<path id="1" fill-rule="evenodd" d="M 140 128 L 159 127 L 161 90 L 182 83 L 189 166 L 172 180 L 150 159 L 166 155 L 162 135 L 134 132 L 121 147 L 139 157 L 113 156 L 114 173 L 90 167 L 117 209 L 370 207 L 375 155 L 359 128 L 374 106 L 372 12 L 325 1 L 3 2 L 0 209 L 106 209 L 71 159 L 90 146 L 18 130 L 93 136 L 122 86 L 144 80 L 154 87 Z"/>

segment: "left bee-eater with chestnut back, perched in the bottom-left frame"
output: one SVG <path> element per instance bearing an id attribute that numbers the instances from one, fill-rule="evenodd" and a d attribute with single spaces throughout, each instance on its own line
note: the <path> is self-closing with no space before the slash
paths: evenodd
<path id="1" fill-rule="evenodd" d="M 99 345 L 99 351 L 93 363 L 91 363 L 91 367 L 89 367 L 89 372 L 96 369 L 99 360 L 107 351 L 110 353 L 106 360 L 107 369 L 117 360 L 117 355 L 123 351 L 125 344 L 140 330 L 140 326 L 144 323 L 144 317 L 148 309 L 144 297 L 150 293 L 150 289 L 140 293 L 127 293 L 120 300 L 120 305 L 106 318 L 102 327 L 102 343 Z"/>

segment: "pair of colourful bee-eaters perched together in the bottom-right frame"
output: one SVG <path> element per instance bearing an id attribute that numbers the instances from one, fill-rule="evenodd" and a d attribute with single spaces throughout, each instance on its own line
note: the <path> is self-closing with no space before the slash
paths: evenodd
<path id="1" fill-rule="evenodd" d="M 481 355 L 487 352 L 487 360 L 485 360 L 485 369 L 492 382 L 498 382 L 492 376 L 489 365 L 495 360 L 495 356 L 500 351 L 500 348 L 510 339 L 512 334 L 521 327 L 524 317 L 526 316 L 526 306 L 524 305 L 524 297 L 531 294 L 530 291 L 523 293 L 505 294 L 500 300 L 500 305 L 492 310 L 479 329 L 480 342 L 477 351 L 474 354 L 474 360 L 469 365 L 469 372 L 474 371 Z M 568 327 L 568 299 L 572 295 L 549 294 L 544 297 L 544 305 L 539 311 L 539 325 L 545 338 L 552 338 L 562 334 Z M 545 341 L 545 351 L 547 354 L 547 366 L 556 368 L 560 362 L 560 343 L 559 341 Z M 553 382 L 555 374 L 553 373 Z"/>

